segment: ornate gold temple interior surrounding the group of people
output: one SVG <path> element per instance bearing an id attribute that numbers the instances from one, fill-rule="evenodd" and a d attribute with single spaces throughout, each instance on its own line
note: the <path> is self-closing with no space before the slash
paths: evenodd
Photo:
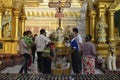
<path id="1" fill-rule="evenodd" d="M 82 78 L 75 80 L 100 80 L 101 77 L 105 77 L 107 76 L 105 74 L 109 73 L 111 73 L 111 79 L 105 77 L 101 80 L 119 80 L 120 77 L 116 76 L 120 73 L 119 19 L 120 0 L 0 0 L 0 80 L 9 80 L 8 74 L 16 76 L 10 80 L 18 80 L 19 77 L 20 80 L 43 80 L 40 78 L 42 73 L 39 73 L 37 69 L 37 53 L 35 54 L 35 63 L 32 63 L 28 69 L 29 77 L 26 79 L 25 76 L 21 77 L 21 74 L 18 74 L 24 61 L 19 47 L 19 41 L 23 37 L 24 31 L 30 30 L 33 35 L 39 35 L 40 29 L 45 29 L 47 37 L 50 34 L 56 34 L 59 38 L 65 37 L 67 31 L 72 32 L 75 27 L 78 29 L 83 42 L 86 35 L 92 36 L 92 43 L 97 50 L 96 54 L 101 55 L 103 59 L 102 65 L 98 64 L 97 60 L 95 61 L 95 74 L 93 76 L 79 75 Z M 100 20 L 103 20 L 102 25 L 105 25 L 102 32 L 98 26 Z M 58 28 L 61 29 L 61 32 L 57 34 Z M 71 51 L 65 44 L 59 43 L 62 38 L 53 41 L 55 42 L 56 54 L 60 57 L 58 62 L 64 61 L 63 55 L 67 60 Z M 109 46 L 114 49 L 114 56 L 110 55 Z M 109 69 L 110 65 L 107 65 L 109 56 L 114 59 L 113 64 L 116 68 Z M 108 63 L 110 61 L 108 60 Z M 66 64 L 65 69 L 57 69 L 51 65 L 52 74 L 57 74 L 57 78 L 63 77 L 62 74 L 74 75 L 71 61 Z M 50 75 L 45 76 L 47 77 L 45 80 L 69 80 L 67 77 L 65 79 L 65 76 L 60 79 L 51 79 Z"/>

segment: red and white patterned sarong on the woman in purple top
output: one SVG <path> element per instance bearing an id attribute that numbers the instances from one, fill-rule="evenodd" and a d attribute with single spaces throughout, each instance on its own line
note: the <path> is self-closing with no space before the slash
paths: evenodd
<path id="1" fill-rule="evenodd" d="M 92 56 L 82 56 L 83 74 L 95 73 L 95 58 Z"/>

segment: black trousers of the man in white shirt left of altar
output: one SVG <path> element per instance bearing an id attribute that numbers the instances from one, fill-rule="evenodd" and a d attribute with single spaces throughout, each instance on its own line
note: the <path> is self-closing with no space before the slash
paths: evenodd
<path id="1" fill-rule="evenodd" d="M 42 72 L 43 71 L 43 64 L 42 64 L 42 51 L 37 52 L 37 67 L 38 67 L 38 71 Z"/>

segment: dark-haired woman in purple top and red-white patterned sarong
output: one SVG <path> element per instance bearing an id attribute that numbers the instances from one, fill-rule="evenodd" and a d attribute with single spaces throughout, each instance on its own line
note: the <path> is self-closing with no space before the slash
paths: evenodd
<path id="1" fill-rule="evenodd" d="M 82 44 L 82 66 L 84 74 L 95 73 L 95 45 L 91 42 L 92 36 L 87 35 L 85 42 Z"/>

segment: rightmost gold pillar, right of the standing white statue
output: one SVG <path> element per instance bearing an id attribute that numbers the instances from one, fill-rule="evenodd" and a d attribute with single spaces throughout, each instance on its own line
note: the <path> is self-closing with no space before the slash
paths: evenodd
<path id="1" fill-rule="evenodd" d="M 115 38 L 114 38 L 114 12 L 115 12 L 115 9 L 109 9 L 109 38 L 108 40 L 111 42 L 111 41 L 114 41 Z"/>

